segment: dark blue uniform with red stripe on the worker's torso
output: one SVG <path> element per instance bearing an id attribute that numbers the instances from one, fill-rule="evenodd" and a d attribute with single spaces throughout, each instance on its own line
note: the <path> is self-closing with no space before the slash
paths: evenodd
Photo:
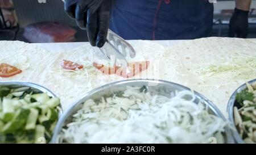
<path id="1" fill-rule="evenodd" d="M 196 39 L 212 22 L 209 0 L 115 0 L 110 29 L 128 40 Z"/>

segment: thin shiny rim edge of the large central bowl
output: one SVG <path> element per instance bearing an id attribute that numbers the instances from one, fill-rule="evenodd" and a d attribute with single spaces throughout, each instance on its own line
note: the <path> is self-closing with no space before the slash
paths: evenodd
<path id="1" fill-rule="evenodd" d="M 184 90 L 191 90 L 195 93 L 195 95 L 197 97 L 199 97 L 200 99 L 204 99 L 205 103 L 207 103 L 208 107 L 213 111 L 214 115 L 218 116 L 219 118 L 221 118 L 224 121 L 228 121 L 215 104 L 213 104 L 209 99 L 204 97 L 204 95 L 201 95 L 200 93 L 197 93 L 197 91 L 189 89 L 186 86 L 180 85 L 178 83 L 170 82 L 170 81 L 160 80 L 160 79 L 125 79 L 125 80 L 121 80 L 121 81 L 106 83 L 105 85 L 96 87 L 95 89 L 88 91 L 81 99 L 77 100 L 67 110 L 65 110 L 64 114 L 61 116 L 61 118 L 59 119 L 59 121 L 56 124 L 55 131 L 53 132 L 53 136 L 52 136 L 52 143 L 56 143 L 57 136 L 61 132 L 61 129 L 63 128 L 63 125 L 65 123 L 65 120 L 70 116 L 69 113 L 72 111 L 72 109 L 75 108 L 76 106 L 78 106 L 79 104 L 84 103 L 86 98 L 88 98 L 90 95 L 92 95 L 94 93 L 97 93 L 98 91 L 104 90 L 105 88 L 108 88 L 108 87 L 111 87 L 114 85 L 123 85 L 125 83 L 133 83 L 133 82 L 166 83 L 169 86 L 170 85 L 178 86 Z M 232 133 L 230 132 L 230 129 L 228 127 L 225 128 L 225 133 L 226 133 L 226 140 L 227 140 L 226 143 L 234 143 Z"/>

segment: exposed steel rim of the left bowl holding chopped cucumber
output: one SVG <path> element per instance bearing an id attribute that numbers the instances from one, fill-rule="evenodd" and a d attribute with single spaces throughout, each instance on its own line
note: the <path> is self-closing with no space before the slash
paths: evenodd
<path id="1" fill-rule="evenodd" d="M 21 81 L 3 81 L 3 82 L 0 81 L 0 87 L 1 86 L 10 87 L 10 88 L 13 88 L 13 89 L 17 89 L 19 87 L 30 87 L 32 90 L 34 90 L 36 92 L 46 93 L 47 95 L 49 95 L 49 97 L 53 97 L 53 98 L 56 97 L 56 95 L 53 94 L 52 91 L 48 90 L 46 87 L 37 85 L 35 83 L 21 82 Z M 60 108 L 61 108 L 61 105 L 60 105 Z M 59 119 L 60 119 L 62 114 L 63 114 L 63 110 L 61 108 L 61 110 L 59 111 Z M 49 143 L 51 143 L 51 141 Z"/>

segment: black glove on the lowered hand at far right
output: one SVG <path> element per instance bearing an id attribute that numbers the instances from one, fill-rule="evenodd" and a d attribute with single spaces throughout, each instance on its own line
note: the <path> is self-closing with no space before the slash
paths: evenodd
<path id="1" fill-rule="evenodd" d="M 242 37 L 246 38 L 248 34 L 248 14 L 249 11 L 235 9 L 234 14 L 229 22 L 229 37 Z"/>

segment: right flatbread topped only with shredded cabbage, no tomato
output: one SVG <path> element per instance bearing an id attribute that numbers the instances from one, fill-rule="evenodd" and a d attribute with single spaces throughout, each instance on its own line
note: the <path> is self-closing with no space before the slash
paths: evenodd
<path id="1" fill-rule="evenodd" d="M 243 64 L 247 60 L 255 63 Z M 234 67 L 235 70 L 229 70 L 233 68 L 230 63 L 238 65 Z M 209 37 L 184 41 L 167 49 L 160 61 L 159 73 L 162 79 L 180 83 L 205 95 L 226 114 L 226 106 L 233 91 L 242 83 L 256 78 L 256 66 L 249 68 L 253 65 L 256 65 L 254 41 Z M 226 72 L 211 73 L 209 66 L 214 66 L 214 69 L 224 68 Z"/>

